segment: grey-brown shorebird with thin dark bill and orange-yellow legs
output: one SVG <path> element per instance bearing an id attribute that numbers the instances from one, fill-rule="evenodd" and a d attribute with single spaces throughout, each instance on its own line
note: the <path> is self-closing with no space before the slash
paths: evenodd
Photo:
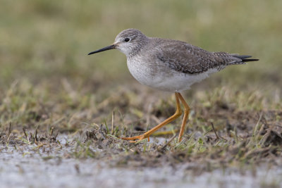
<path id="1" fill-rule="evenodd" d="M 180 142 L 190 113 L 190 108 L 180 92 L 190 89 L 195 82 L 204 80 L 228 65 L 258 61 L 250 58 L 252 56 L 229 54 L 223 51 L 209 52 L 178 40 L 147 37 L 136 29 L 123 30 L 116 36 L 114 44 L 92 51 L 88 55 L 110 49 L 118 49 L 125 54 L 128 69 L 138 82 L 166 92 L 174 92 L 176 96 L 176 113 L 144 134 L 136 137 L 121 137 L 130 142 L 146 138 L 149 140 L 153 132 L 176 120 L 182 114 L 181 101 L 185 111 L 178 135 Z"/>

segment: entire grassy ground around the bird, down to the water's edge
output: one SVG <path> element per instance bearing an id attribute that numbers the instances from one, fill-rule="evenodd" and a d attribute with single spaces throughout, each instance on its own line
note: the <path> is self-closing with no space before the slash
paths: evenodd
<path id="1" fill-rule="evenodd" d="M 35 132 L 38 126 L 40 135 L 49 135 L 51 127 L 84 136 L 89 130 L 87 142 L 71 143 L 71 157 L 108 156 L 116 165 L 189 161 L 209 171 L 252 168 L 279 158 L 281 6 L 282 1 L 262 0 L 2 1 L 1 143 L 32 144 L 23 127 Z M 175 111 L 173 95 L 137 83 L 120 52 L 86 55 L 111 44 L 128 27 L 260 61 L 226 68 L 184 92 L 192 111 L 183 142 L 173 140 L 164 149 L 165 143 L 128 144 L 114 137 L 147 130 Z M 13 137 L 8 139 L 10 123 Z M 178 129 L 180 123 L 179 118 L 162 130 Z M 216 138 L 211 123 L 223 139 Z M 97 130 L 101 124 L 106 132 Z M 96 138 L 100 134 L 104 139 Z M 104 150 L 94 151 L 97 147 Z"/>

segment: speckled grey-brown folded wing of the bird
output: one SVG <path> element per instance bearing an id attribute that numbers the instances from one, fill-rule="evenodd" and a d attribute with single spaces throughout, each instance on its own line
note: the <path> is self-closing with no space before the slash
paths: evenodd
<path id="1" fill-rule="evenodd" d="M 181 73 L 203 73 L 210 68 L 225 67 L 243 63 L 235 54 L 226 52 L 209 52 L 197 46 L 180 41 L 166 41 L 159 44 L 157 58 L 169 68 Z"/>

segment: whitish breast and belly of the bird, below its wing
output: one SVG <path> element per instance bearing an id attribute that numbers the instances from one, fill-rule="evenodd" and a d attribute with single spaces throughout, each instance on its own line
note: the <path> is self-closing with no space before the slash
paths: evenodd
<path id="1" fill-rule="evenodd" d="M 190 89 L 195 82 L 200 82 L 209 77 L 209 74 L 215 73 L 216 68 L 199 74 L 180 73 L 166 66 L 151 66 L 149 63 L 130 60 L 128 69 L 141 84 L 154 87 L 166 92 L 181 92 Z"/>

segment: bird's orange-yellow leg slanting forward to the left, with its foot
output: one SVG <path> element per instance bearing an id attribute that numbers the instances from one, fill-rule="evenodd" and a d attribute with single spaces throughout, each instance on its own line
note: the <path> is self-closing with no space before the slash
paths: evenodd
<path id="1" fill-rule="evenodd" d="M 160 123 L 159 125 L 157 125 L 156 127 L 152 128 L 152 130 L 149 130 L 147 132 L 145 132 L 144 134 L 141 134 L 139 136 L 136 137 L 121 137 L 121 139 L 125 139 L 125 140 L 132 140 L 132 142 L 135 142 L 135 139 L 141 140 L 141 139 L 146 139 L 148 138 L 149 140 L 149 136 L 155 132 L 156 130 L 158 130 L 159 128 L 163 127 L 164 125 L 171 123 L 171 121 L 175 120 L 176 118 L 178 118 L 181 115 L 181 108 L 180 108 L 180 102 L 179 102 L 179 98 L 181 99 L 181 101 L 183 100 L 183 97 L 180 95 L 180 93 L 175 93 L 176 94 L 176 113 L 174 113 L 170 118 L 167 118 L 166 120 L 164 120 L 162 123 Z M 187 105 L 187 104 L 186 104 Z M 186 107 L 185 107 L 186 108 Z M 189 107 L 188 107 L 189 108 Z M 182 128 L 182 127 L 181 127 Z"/>

